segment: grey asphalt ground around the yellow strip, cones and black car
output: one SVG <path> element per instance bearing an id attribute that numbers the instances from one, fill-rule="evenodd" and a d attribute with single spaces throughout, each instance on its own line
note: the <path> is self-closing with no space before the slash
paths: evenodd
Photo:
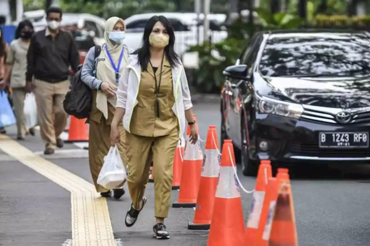
<path id="1" fill-rule="evenodd" d="M 195 105 L 200 135 L 206 139 L 209 124 L 220 129 L 219 105 Z M 15 138 L 14 127 L 8 129 Z M 40 137 L 27 136 L 21 143 L 35 153 L 43 151 Z M 0 140 L 1 149 L 1 140 Z M 54 156 L 44 157 L 91 182 L 87 151 L 66 144 Z M 239 167 L 238 167 L 239 168 Z M 300 246 L 370 245 L 370 167 L 353 164 L 346 167 L 317 168 L 299 165 L 290 170 L 296 225 Z M 239 168 L 240 173 L 240 168 Z M 255 178 L 239 175 L 242 185 L 253 189 Z M 127 188 L 126 188 L 127 189 Z M 124 224 L 130 205 L 128 193 L 120 201 L 108 199 L 112 228 L 117 245 L 130 246 L 205 246 L 207 231 L 190 231 L 193 209 L 171 208 L 166 225 L 169 240 L 152 239 L 154 224 L 153 184 L 148 184 L 148 203 L 132 228 Z M 176 201 L 178 191 L 173 192 Z M 242 194 L 245 219 L 251 202 Z M 71 245 L 70 192 L 0 151 L 0 245 L 57 246 Z"/>

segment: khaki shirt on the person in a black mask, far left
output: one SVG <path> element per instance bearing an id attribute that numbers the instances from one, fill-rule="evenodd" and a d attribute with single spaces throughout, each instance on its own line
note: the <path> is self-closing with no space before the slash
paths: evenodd
<path id="1" fill-rule="evenodd" d="M 6 64 L 13 65 L 10 77 L 11 88 L 26 86 L 27 51 L 30 44 L 21 41 L 20 38 L 11 42 Z"/>

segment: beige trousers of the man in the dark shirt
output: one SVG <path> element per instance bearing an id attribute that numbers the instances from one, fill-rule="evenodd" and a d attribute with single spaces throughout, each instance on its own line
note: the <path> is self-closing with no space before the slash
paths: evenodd
<path id="1" fill-rule="evenodd" d="M 67 124 L 67 113 L 63 109 L 63 100 L 68 92 L 68 80 L 49 83 L 35 79 L 35 98 L 40 124 L 41 138 L 46 143 L 46 148 L 54 148 L 56 140 Z"/>

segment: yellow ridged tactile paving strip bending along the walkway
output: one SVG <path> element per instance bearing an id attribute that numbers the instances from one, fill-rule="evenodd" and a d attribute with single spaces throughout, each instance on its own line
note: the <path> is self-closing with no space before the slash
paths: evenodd
<path id="1" fill-rule="evenodd" d="M 72 245 L 115 246 L 107 200 L 94 185 L 0 134 L 0 149 L 71 192 Z"/>

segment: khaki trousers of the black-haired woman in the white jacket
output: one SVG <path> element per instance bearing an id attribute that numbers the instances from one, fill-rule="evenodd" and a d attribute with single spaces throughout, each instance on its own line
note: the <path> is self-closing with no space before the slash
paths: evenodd
<path id="1" fill-rule="evenodd" d="M 178 130 L 161 137 L 143 137 L 126 131 L 128 161 L 127 185 L 135 208 L 144 196 L 153 160 L 155 217 L 168 217 L 172 194 L 174 154 L 179 141 Z"/>

